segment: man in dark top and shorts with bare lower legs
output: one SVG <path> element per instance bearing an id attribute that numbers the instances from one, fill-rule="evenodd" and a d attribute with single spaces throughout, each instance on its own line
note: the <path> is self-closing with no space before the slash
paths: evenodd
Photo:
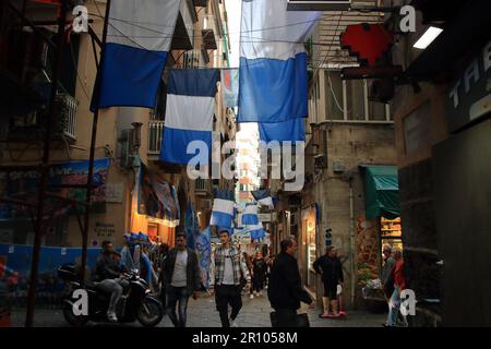
<path id="1" fill-rule="evenodd" d="M 325 254 L 319 257 L 313 263 L 315 273 L 322 276 L 322 282 L 324 284 L 324 297 L 322 298 L 322 304 L 324 306 L 324 313 L 321 317 L 330 316 L 330 304 L 333 309 L 332 315 L 338 315 L 337 309 L 337 285 L 342 285 L 344 281 L 343 265 L 337 257 L 337 251 L 335 246 L 327 246 Z"/>

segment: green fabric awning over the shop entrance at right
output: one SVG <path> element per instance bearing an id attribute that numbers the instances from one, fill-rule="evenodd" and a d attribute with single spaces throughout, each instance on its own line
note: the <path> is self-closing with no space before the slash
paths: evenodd
<path id="1" fill-rule="evenodd" d="M 400 216 L 399 182 L 395 166 L 362 166 L 367 219 Z"/>

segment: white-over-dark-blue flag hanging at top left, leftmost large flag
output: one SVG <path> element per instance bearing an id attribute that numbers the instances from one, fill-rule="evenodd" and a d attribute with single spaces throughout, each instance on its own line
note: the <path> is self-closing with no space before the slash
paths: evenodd
<path id="1" fill-rule="evenodd" d="M 180 0 L 112 0 L 100 91 L 91 109 L 154 108 Z M 99 97 L 97 97 L 99 95 Z"/>

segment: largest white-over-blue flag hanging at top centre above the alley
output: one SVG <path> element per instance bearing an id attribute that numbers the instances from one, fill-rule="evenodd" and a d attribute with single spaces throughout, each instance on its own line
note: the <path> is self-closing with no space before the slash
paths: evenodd
<path id="1" fill-rule="evenodd" d="M 308 116 L 303 41 L 321 15 L 287 11 L 287 0 L 242 1 L 238 122 Z"/>

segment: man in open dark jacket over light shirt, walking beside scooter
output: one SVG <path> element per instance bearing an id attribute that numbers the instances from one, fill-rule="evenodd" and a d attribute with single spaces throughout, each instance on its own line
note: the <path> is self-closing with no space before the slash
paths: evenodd
<path id="1" fill-rule="evenodd" d="M 185 327 L 188 300 L 196 299 L 201 289 L 196 254 L 187 248 L 185 234 L 178 233 L 176 248 L 170 250 L 163 265 L 163 287 L 166 290 L 166 309 L 176 327 Z M 179 302 L 179 317 L 176 305 Z"/>

